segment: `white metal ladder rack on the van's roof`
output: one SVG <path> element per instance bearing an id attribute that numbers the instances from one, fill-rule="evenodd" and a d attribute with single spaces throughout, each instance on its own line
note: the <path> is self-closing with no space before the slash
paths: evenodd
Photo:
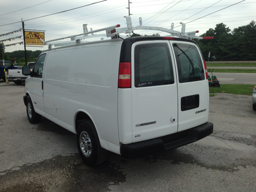
<path id="1" fill-rule="evenodd" d="M 182 29 L 181 32 L 179 31 L 175 31 L 173 30 L 174 28 L 174 23 L 172 23 L 171 25 L 171 29 L 166 29 L 166 28 L 162 28 L 162 27 L 153 27 L 153 26 L 142 26 L 142 18 L 139 18 L 139 22 L 140 22 L 140 26 L 132 26 L 132 20 L 130 16 L 124 16 L 124 18 L 126 18 L 126 24 L 127 24 L 127 28 L 119 28 L 120 25 L 114 25 L 114 26 L 110 26 L 110 27 L 106 27 L 106 28 L 101 28 L 98 30 L 92 30 L 92 28 L 90 28 L 91 31 L 88 31 L 87 29 L 87 24 L 83 25 L 83 29 L 84 29 L 84 33 L 82 34 L 77 34 L 77 35 L 73 35 L 73 36 L 68 36 L 68 37 L 63 37 L 63 38 L 58 38 L 58 39 L 53 39 L 53 40 L 48 40 L 48 41 L 43 41 L 39 36 L 37 36 L 35 34 L 35 36 L 40 39 L 40 41 L 42 41 L 45 45 L 49 45 L 49 49 L 52 48 L 52 45 L 55 46 L 67 46 L 67 45 L 72 45 L 72 44 L 80 44 L 82 39 L 87 39 L 87 38 L 94 38 L 94 37 L 102 37 L 102 36 L 106 36 L 106 37 L 111 37 L 112 39 L 118 39 L 120 36 L 120 33 L 125 33 L 125 34 L 130 34 L 134 31 L 134 30 L 157 30 L 157 31 L 162 31 L 162 32 L 167 32 L 170 35 L 166 35 L 167 37 L 180 37 L 180 38 L 185 38 L 185 39 L 213 39 L 213 36 L 210 37 L 200 37 L 200 36 L 196 36 L 196 33 L 198 33 L 199 31 L 192 31 L 192 32 L 185 32 L 185 28 L 186 28 L 186 24 L 185 23 L 180 23 L 182 24 Z M 100 31 L 106 31 L 106 34 L 94 34 L 96 32 L 100 32 Z M 92 34 L 90 36 L 88 36 L 88 34 Z M 123 36 L 126 37 L 126 36 Z M 58 42 L 58 40 L 64 40 L 70 38 L 70 41 L 65 41 L 65 42 Z M 54 42 L 57 41 L 57 42 Z M 83 43 L 83 42 L 82 42 Z"/>

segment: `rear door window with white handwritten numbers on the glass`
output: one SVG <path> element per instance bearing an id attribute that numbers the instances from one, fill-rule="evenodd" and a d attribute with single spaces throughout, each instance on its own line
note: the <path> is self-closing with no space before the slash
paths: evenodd
<path id="1" fill-rule="evenodd" d="M 172 60 L 166 43 L 135 47 L 134 79 L 135 87 L 174 84 Z"/>

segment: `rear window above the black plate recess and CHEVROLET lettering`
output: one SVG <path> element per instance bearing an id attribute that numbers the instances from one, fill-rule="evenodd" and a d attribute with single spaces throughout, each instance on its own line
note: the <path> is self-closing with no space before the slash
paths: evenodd
<path id="1" fill-rule="evenodd" d="M 196 46 L 174 43 L 180 83 L 204 80 L 204 68 Z"/>

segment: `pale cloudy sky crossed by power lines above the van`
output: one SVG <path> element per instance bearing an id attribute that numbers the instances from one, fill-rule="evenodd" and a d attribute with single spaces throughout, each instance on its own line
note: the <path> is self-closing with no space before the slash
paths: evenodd
<path id="1" fill-rule="evenodd" d="M 129 14 L 128 0 L 1 0 L 0 7 L 0 35 L 20 30 L 23 20 L 25 30 L 44 31 L 46 41 L 82 34 L 83 24 L 88 24 L 89 30 L 117 24 L 126 27 L 124 16 Z M 174 30 L 181 31 L 179 23 L 183 22 L 186 23 L 186 32 L 198 30 L 200 36 L 219 23 L 233 30 L 256 21 L 256 0 L 130 0 L 130 14 L 133 26 L 139 25 L 141 17 L 144 26 L 170 29 L 174 23 Z M 134 32 L 152 35 L 159 31 Z M 168 33 L 160 32 L 160 35 Z M 23 33 L 18 31 L 0 36 L 0 42 L 10 38 L 13 39 L 4 41 L 4 45 L 23 42 Z M 46 49 L 47 45 L 26 46 L 26 50 Z M 5 47 L 5 52 L 16 50 L 24 50 L 24 45 Z"/>

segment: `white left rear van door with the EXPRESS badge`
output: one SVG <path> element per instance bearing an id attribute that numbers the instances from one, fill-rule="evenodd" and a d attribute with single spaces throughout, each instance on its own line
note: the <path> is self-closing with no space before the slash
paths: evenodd
<path id="1" fill-rule="evenodd" d="M 177 82 L 168 41 L 132 44 L 132 141 L 178 130 Z"/>

